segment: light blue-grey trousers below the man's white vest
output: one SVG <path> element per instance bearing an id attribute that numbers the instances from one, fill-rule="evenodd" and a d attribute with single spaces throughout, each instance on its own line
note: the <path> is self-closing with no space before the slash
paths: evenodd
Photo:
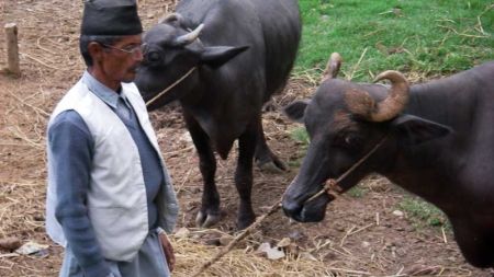
<path id="1" fill-rule="evenodd" d="M 170 270 L 166 263 L 159 236 L 150 231 L 139 252 L 132 262 L 115 262 L 106 259 L 114 277 L 169 277 Z M 86 276 L 77 263 L 70 247 L 65 250 L 64 263 L 58 277 L 91 277 Z"/>

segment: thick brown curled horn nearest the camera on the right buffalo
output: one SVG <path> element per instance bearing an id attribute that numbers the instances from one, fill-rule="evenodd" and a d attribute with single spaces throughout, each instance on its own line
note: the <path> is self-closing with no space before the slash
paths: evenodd
<path id="1" fill-rule="evenodd" d="M 400 114 L 406 106 L 409 95 L 409 84 L 406 78 L 398 71 L 388 70 L 380 73 L 374 82 L 388 79 L 391 88 L 386 99 L 381 101 L 377 109 L 370 114 L 371 122 L 385 122 Z"/>

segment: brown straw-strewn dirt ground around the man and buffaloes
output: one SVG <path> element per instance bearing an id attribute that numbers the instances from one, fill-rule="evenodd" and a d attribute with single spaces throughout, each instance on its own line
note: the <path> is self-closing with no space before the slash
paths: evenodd
<path id="1" fill-rule="evenodd" d="M 142 0 L 139 13 L 145 27 L 173 9 L 173 1 Z M 46 180 L 45 128 L 55 103 L 78 80 L 83 62 L 78 54 L 81 1 L 2 0 L 0 25 L 19 26 L 22 77 L 0 74 L 0 239 L 49 245 L 37 255 L 14 255 L 0 250 L 0 276 L 57 276 L 61 249 L 44 232 Z M 5 66 L 5 38 L 0 35 L 0 68 Z M 255 170 L 254 205 L 257 215 L 280 199 L 296 174 L 302 146 L 290 138 L 290 123 L 280 108 L 295 99 L 311 95 L 314 83 L 292 78 L 285 92 L 276 96 L 273 111 L 263 114 L 268 143 L 287 163 L 285 173 Z M 181 204 L 179 227 L 193 228 L 200 205 L 202 181 L 195 151 L 180 115 L 170 106 L 151 113 L 161 151 L 175 181 Z M 216 227 L 235 230 L 238 196 L 233 185 L 236 151 L 218 162 L 217 184 L 223 221 Z M 340 196 L 321 223 L 291 222 L 274 213 L 251 238 L 254 244 L 292 238 L 339 276 L 491 276 L 468 265 L 450 232 L 417 229 L 406 212 L 393 213 L 404 192 L 384 178 L 372 176 L 361 184 L 361 197 Z M 210 243 L 204 236 L 198 243 Z M 180 263 L 180 261 L 179 261 Z M 190 265 L 197 266 L 197 265 Z M 183 276 L 180 272 L 177 276 Z M 299 274 L 300 275 L 300 274 Z M 279 273 L 277 276 L 293 276 Z"/>

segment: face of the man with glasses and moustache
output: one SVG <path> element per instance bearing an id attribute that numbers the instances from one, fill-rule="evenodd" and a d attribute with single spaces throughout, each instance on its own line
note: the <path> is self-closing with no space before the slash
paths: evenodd
<path id="1" fill-rule="evenodd" d="M 125 36 L 113 45 L 103 46 L 102 70 L 108 79 L 132 82 L 143 60 L 142 35 Z"/>

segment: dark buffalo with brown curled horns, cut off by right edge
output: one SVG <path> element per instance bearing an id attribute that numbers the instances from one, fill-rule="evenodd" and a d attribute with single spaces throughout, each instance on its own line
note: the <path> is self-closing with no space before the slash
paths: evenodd
<path id="1" fill-rule="evenodd" d="M 332 78 L 329 69 L 310 102 L 285 107 L 311 143 L 284 212 L 321 221 L 333 195 L 313 196 L 326 181 L 351 169 L 335 186 L 343 193 L 375 172 L 439 207 L 467 261 L 493 267 L 494 61 L 415 85 L 396 71 L 380 74 L 391 88 Z"/>

